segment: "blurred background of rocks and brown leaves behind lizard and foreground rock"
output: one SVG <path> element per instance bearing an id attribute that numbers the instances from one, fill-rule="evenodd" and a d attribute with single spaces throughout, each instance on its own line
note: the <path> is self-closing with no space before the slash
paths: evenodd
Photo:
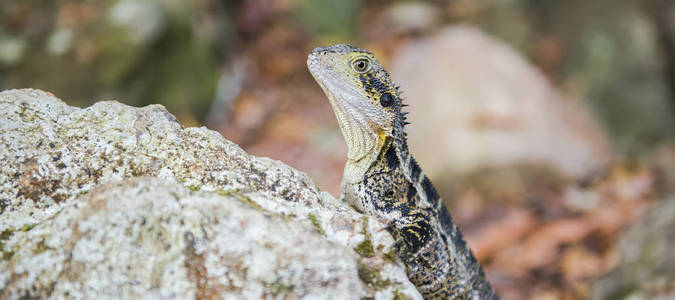
<path id="1" fill-rule="evenodd" d="M 160 103 L 340 192 L 305 60 L 373 51 L 503 299 L 675 298 L 672 0 L 0 0 L 0 90 Z"/>

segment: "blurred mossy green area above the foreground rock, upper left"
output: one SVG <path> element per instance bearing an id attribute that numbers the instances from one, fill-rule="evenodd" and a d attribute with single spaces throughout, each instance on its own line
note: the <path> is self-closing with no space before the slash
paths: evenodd
<path id="1" fill-rule="evenodd" d="M 219 69 L 215 37 L 228 19 L 209 18 L 192 2 L 0 5 L 0 40 L 25 45 L 0 61 L 2 89 L 40 88 L 79 105 L 124 99 L 162 103 L 178 115 L 206 113 Z"/>

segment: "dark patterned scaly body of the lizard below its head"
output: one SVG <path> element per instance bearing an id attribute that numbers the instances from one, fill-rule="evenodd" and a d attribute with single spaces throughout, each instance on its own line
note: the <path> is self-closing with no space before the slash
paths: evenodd
<path id="1" fill-rule="evenodd" d="M 363 181 L 343 184 L 344 197 L 365 213 L 386 216 L 408 277 L 425 298 L 496 299 L 405 140 L 389 140 L 384 148 Z M 420 207 L 423 201 L 429 205 Z"/>

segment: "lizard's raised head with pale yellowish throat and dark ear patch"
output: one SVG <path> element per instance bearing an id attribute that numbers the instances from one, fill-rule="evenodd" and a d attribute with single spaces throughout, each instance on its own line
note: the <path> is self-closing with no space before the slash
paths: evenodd
<path id="1" fill-rule="evenodd" d="M 337 44 L 314 49 L 307 66 L 330 100 L 349 148 L 349 161 L 378 154 L 392 136 L 401 100 L 375 56 Z"/>

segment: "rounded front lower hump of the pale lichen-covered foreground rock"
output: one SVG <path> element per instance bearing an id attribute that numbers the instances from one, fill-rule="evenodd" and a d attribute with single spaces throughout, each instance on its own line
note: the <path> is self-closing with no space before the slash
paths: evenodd
<path id="1" fill-rule="evenodd" d="M 3 298 L 364 293 L 345 248 L 224 194 L 155 178 L 100 186 L 28 231 Z"/>

